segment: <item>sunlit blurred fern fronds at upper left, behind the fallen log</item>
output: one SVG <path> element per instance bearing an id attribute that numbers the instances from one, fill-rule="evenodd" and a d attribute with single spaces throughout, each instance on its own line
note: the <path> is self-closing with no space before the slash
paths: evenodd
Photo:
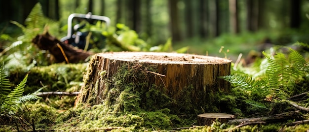
<path id="1" fill-rule="evenodd" d="M 49 65 L 49 58 L 46 51 L 41 51 L 32 44 L 32 39 L 39 33 L 47 31 L 58 34 L 58 23 L 53 22 L 43 16 L 42 7 L 37 3 L 25 20 L 25 26 L 16 21 L 11 21 L 19 27 L 23 34 L 16 39 L 11 38 L 12 43 L 7 43 L 5 49 L 0 53 L 0 61 L 5 62 L 6 67 L 10 70 L 23 68 L 29 70 L 33 66 Z M 1 35 L 3 38 L 7 38 Z M 9 38 L 7 38 L 9 39 Z"/>

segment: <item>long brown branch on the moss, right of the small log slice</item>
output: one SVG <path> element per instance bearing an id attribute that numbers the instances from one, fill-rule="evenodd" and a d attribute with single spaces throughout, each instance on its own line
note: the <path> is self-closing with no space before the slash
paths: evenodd
<path id="1" fill-rule="evenodd" d="M 275 114 L 275 115 L 265 116 L 265 117 L 229 120 L 228 124 L 242 124 L 242 123 L 247 123 L 247 122 L 266 122 L 266 123 L 280 122 L 280 121 L 295 119 L 299 117 L 299 115 L 300 115 L 300 111 L 296 110 L 296 111 L 280 113 L 280 114 Z"/>

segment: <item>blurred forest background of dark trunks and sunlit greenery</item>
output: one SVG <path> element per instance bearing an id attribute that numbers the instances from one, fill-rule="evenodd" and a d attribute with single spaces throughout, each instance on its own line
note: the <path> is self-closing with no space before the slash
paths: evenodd
<path id="1" fill-rule="evenodd" d="M 171 37 L 174 46 L 190 45 L 189 52 L 197 54 L 265 40 L 280 45 L 309 41 L 308 0 L 1 0 L 2 33 L 18 34 L 18 29 L 9 29 L 16 28 L 9 21 L 23 24 L 37 2 L 45 16 L 59 21 L 59 34 L 54 34 L 59 38 L 66 34 L 63 27 L 70 14 L 92 12 L 109 17 L 112 26 L 125 24 L 150 44 Z M 240 37 L 229 37 L 234 34 Z M 214 39 L 218 36 L 223 37 Z"/>

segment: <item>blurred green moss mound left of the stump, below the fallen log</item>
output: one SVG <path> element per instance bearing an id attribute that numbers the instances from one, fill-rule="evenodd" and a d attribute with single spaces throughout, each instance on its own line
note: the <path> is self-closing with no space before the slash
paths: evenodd
<path id="1" fill-rule="evenodd" d="M 88 64 L 53 64 L 50 66 L 35 66 L 29 71 L 10 71 L 9 79 L 12 84 L 18 84 L 29 73 L 25 94 L 33 93 L 39 88 L 42 91 L 66 91 L 71 87 L 78 87 L 82 83 L 83 72 Z M 76 91 L 75 91 L 76 92 Z"/>

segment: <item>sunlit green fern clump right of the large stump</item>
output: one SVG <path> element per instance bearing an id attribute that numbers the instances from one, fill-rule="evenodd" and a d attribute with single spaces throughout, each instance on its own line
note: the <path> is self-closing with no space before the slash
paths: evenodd
<path id="1" fill-rule="evenodd" d="M 266 69 L 257 76 L 244 73 L 243 67 L 238 67 L 238 71 L 232 71 L 232 75 L 222 78 L 228 80 L 234 88 L 246 91 L 248 96 L 244 99 L 246 103 L 253 107 L 271 110 L 275 103 L 295 94 L 298 89 L 296 82 L 309 75 L 309 66 L 304 57 L 292 48 L 288 48 L 288 51 L 288 54 L 277 52 L 275 55 L 263 52 L 265 61 L 257 62 L 260 66 L 251 68 L 251 70 Z"/>

